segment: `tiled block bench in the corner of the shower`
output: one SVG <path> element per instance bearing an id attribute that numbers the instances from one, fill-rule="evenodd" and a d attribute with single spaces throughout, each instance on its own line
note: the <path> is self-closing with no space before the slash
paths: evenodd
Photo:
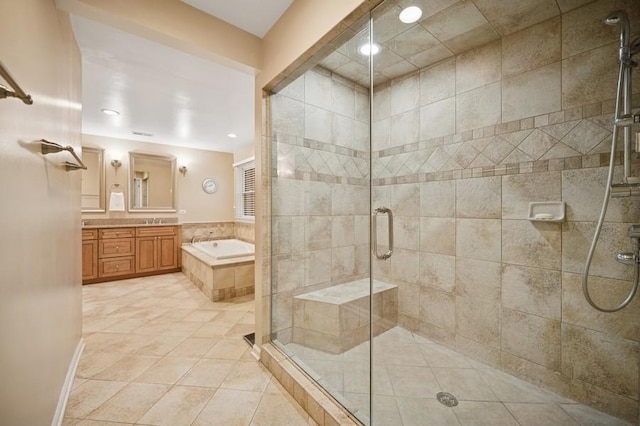
<path id="1" fill-rule="evenodd" d="M 371 327 L 377 336 L 398 321 L 398 286 L 374 280 Z M 343 353 L 369 339 L 369 279 L 314 290 L 293 298 L 293 341 Z"/>

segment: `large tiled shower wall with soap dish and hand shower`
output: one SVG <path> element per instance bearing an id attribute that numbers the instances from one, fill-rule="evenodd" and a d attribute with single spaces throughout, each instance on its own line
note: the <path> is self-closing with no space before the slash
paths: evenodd
<path id="1" fill-rule="evenodd" d="M 374 205 L 393 209 L 396 249 L 374 273 L 398 284 L 405 328 L 635 422 L 640 303 L 598 313 L 580 276 L 605 190 L 616 7 L 640 28 L 637 2 L 597 1 L 375 89 Z M 530 201 L 566 202 L 566 222 L 527 220 Z M 614 254 L 638 222 L 637 199 L 611 202 L 591 269 L 605 306 L 630 287 Z"/>

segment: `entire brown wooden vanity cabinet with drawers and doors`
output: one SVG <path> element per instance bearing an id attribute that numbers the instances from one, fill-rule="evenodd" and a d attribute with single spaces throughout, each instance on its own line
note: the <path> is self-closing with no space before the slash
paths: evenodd
<path id="1" fill-rule="evenodd" d="M 180 227 L 82 230 L 82 282 L 180 271 Z"/>

